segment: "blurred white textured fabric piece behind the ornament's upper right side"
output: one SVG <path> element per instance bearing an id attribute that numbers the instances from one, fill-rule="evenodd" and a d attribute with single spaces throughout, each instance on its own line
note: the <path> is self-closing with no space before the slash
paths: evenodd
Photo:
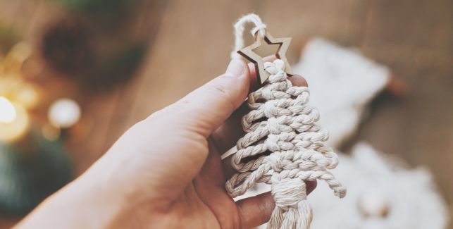
<path id="1" fill-rule="evenodd" d="M 319 124 L 329 130 L 325 144 L 340 147 L 366 118 L 369 101 L 390 80 L 390 70 L 356 49 L 339 47 L 325 39 L 311 39 L 300 61 L 292 66 L 310 87 L 310 104 L 318 109 Z M 365 115 L 365 116 L 364 116 Z"/>

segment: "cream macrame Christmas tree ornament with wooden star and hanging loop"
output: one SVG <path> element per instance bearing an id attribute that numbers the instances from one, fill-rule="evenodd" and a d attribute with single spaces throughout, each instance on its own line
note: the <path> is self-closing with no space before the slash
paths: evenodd
<path id="1" fill-rule="evenodd" d="M 244 47 L 244 25 L 254 23 L 255 43 Z M 254 53 L 262 42 L 279 44 L 273 62 L 264 62 Z M 329 170 L 338 164 L 337 154 L 326 147 L 328 132 L 316 124 L 319 113 L 308 106 L 309 89 L 293 86 L 285 51 L 290 38 L 275 39 L 266 32 L 259 16 L 249 14 L 235 24 L 235 50 L 231 58 L 247 58 L 255 64 L 261 87 L 249 94 L 252 109 L 242 118 L 246 134 L 237 141 L 232 167 L 237 173 L 226 182 L 231 197 L 244 194 L 256 183 L 271 185 L 275 200 L 268 228 L 309 228 L 312 211 L 306 200 L 306 180 L 324 180 L 337 197 L 345 197 L 346 188 Z"/>

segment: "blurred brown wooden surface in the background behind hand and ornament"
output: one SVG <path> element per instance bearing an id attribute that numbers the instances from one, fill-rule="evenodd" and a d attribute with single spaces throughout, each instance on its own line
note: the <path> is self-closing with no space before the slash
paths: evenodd
<path id="1" fill-rule="evenodd" d="M 135 32 L 154 24 L 159 29 L 135 77 L 108 93 L 77 97 L 93 123 L 89 135 L 70 141 L 78 174 L 133 123 L 223 73 L 232 23 L 255 12 L 273 35 L 293 37 L 292 63 L 304 41 L 321 36 L 359 48 L 407 82 L 406 96 L 384 94 L 373 101 L 355 140 L 371 142 L 411 166 L 427 166 L 453 203 L 453 1 L 170 0 L 152 9 L 143 4 Z M 59 13 L 46 1 L 0 0 L 0 19 L 23 28 L 30 41 Z"/>

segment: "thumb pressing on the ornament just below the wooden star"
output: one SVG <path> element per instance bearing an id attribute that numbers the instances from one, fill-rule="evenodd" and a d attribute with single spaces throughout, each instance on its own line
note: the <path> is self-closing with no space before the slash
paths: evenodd
<path id="1" fill-rule="evenodd" d="M 249 75 L 247 64 L 233 59 L 225 74 L 195 89 L 162 113 L 175 114 L 180 127 L 208 137 L 244 102 L 249 91 Z"/>

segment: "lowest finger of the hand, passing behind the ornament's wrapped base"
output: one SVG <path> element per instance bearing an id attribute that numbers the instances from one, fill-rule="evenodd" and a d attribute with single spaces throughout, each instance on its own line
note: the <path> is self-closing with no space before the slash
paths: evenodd
<path id="1" fill-rule="evenodd" d="M 316 181 L 306 182 L 306 192 L 309 194 L 317 185 Z M 254 228 L 269 221 L 275 202 L 271 192 L 241 199 L 236 202 L 242 228 Z"/>

